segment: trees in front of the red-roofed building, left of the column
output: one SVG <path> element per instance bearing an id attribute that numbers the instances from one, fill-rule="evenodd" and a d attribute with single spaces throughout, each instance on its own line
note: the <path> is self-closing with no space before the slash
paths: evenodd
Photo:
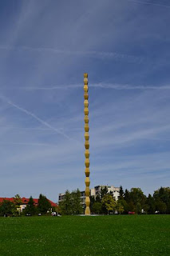
<path id="1" fill-rule="evenodd" d="M 30 196 L 29 202 L 24 210 L 20 208 L 22 204 L 22 198 L 18 194 L 15 195 L 13 202 L 3 200 L 0 203 L 0 216 L 47 214 L 52 208 L 49 200 L 43 194 L 39 195 L 38 206 L 35 206 L 32 196 Z"/>

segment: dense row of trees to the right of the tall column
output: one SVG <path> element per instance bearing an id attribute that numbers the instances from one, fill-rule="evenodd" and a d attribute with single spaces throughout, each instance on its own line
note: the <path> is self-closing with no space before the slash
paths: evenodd
<path id="1" fill-rule="evenodd" d="M 121 186 L 116 201 L 105 187 L 96 199 L 91 197 L 91 209 L 96 214 L 170 214 L 170 188 L 160 187 L 147 197 L 140 188 L 124 191 Z"/>

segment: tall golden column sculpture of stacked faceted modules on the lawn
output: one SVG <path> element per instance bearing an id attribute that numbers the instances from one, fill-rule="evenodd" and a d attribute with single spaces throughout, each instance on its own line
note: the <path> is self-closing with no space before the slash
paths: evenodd
<path id="1" fill-rule="evenodd" d="M 88 74 L 84 74 L 84 113 L 85 113 L 85 215 L 90 215 L 89 199 L 89 94 L 88 94 Z"/>

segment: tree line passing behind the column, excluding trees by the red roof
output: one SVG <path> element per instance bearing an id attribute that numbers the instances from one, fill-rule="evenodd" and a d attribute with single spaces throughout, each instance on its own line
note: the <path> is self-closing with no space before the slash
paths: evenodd
<path id="1" fill-rule="evenodd" d="M 83 214 L 80 190 L 65 191 L 63 201 L 59 203 L 61 214 Z M 96 197 L 90 197 L 90 209 L 93 214 L 170 214 L 170 187 L 160 187 L 154 194 L 144 195 L 140 188 L 123 190 L 120 187 L 118 200 L 107 187 L 101 189 Z"/>

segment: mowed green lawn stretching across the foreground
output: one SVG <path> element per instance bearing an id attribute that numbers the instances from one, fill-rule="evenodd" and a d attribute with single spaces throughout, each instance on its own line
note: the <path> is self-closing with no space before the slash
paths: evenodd
<path id="1" fill-rule="evenodd" d="M 170 215 L 0 218 L 0 255 L 170 255 Z"/>

